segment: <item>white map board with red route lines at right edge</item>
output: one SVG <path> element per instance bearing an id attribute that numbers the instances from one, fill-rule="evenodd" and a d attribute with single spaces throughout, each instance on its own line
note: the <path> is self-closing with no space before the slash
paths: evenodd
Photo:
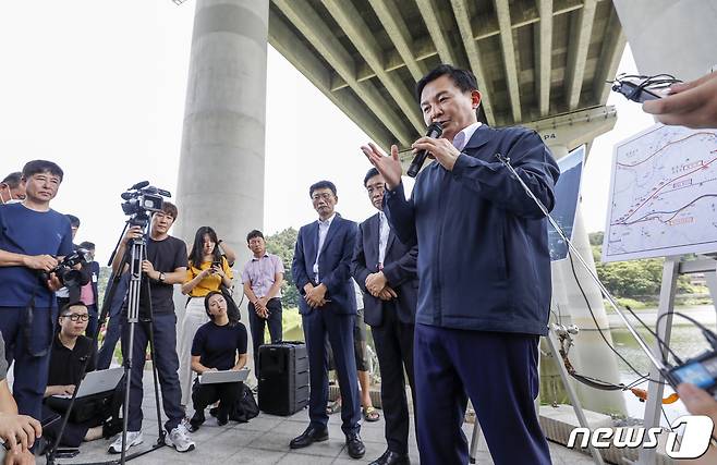
<path id="1" fill-rule="evenodd" d="M 657 124 L 615 146 L 603 261 L 717 252 L 717 131 Z"/>

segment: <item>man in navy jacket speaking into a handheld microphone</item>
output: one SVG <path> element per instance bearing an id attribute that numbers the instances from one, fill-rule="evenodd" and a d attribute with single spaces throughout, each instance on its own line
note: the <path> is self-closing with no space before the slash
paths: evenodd
<path id="1" fill-rule="evenodd" d="M 418 173 L 411 199 L 398 148 L 391 157 L 373 144 L 362 150 L 386 180 L 384 207 L 396 235 L 418 244 L 421 463 L 467 463 L 467 394 L 496 465 L 549 464 L 534 406 L 551 290 L 547 221 L 496 154 L 510 157 L 548 210 L 557 163 L 534 131 L 477 121 L 481 93 L 470 71 L 442 64 L 416 84 L 416 96 L 426 124 L 439 122 L 443 133 L 412 146 L 436 162 Z"/>

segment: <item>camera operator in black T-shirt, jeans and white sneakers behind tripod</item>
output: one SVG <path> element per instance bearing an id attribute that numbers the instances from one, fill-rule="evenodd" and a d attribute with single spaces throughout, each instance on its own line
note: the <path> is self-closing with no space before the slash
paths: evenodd
<path id="1" fill-rule="evenodd" d="M 179 358 L 177 356 L 177 316 L 174 315 L 174 303 L 172 301 L 173 284 L 181 284 L 186 277 L 186 245 L 183 241 L 169 235 L 169 230 L 177 219 L 177 207 L 165 201 L 162 211 L 155 212 L 151 217 L 151 227 L 147 237 L 147 256 L 142 261 L 143 283 L 139 292 L 139 323 L 135 327 L 134 346 L 132 347 L 132 379 L 130 384 L 130 405 L 127 413 L 126 444 L 142 443 L 142 374 L 145 365 L 145 354 L 149 343 L 149 325 L 154 333 L 154 355 L 159 374 L 159 384 L 162 394 L 162 406 L 167 423 L 165 429 L 169 433 L 166 441 L 179 452 L 194 450 L 194 441 L 190 438 L 186 428 L 182 424 L 184 409 L 180 401 L 182 391 L 180 389 Z M 127 230 L 120 246 L 118 247 L 112 272 L 118 272 L 122 264 L 130 242 L 142 237 L 142 228 L 132 227 Z M 149 298 L 147 297 L 147 285 L 151 295 L 151 315 L 149 315 Z M 126 344 L 129 343 L 130 325 L 125 315 L 122 316 L 122 354 L 126 358 Z M 149 319 L 151 317 L 151 320 Z M 122 436 L 110 445 L 111 453 L 122 452 Z"/>

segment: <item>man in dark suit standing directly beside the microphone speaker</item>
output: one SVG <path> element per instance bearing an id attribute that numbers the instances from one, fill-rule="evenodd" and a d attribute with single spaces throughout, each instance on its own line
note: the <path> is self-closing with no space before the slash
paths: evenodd
<path id="1" fill-rule="evenodd" d="M 358 225 L 351 274 L 364 292 L 364 320 L 370 325 L 381 370 L 381 405 L 388 448 L 370 465 L 408 465 L 411 463 L 409 405 L 403 370 L 409 377 L 415 407 L 413 328 L 418 291 L 418 247 L 403 245 L 391 231 L 382 211 L 384 185 L 384 176 L 378 170 L 368 170 L 364 187 L 378 213 Z"/>

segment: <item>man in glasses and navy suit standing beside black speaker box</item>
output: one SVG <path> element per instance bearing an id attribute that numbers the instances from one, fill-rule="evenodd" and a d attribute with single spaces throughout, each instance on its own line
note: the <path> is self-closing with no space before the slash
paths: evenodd
<path id="1" fill-rule="evenodd" d="M 353 353 L 356 298 L 350 274 L 356 223 L 335 212 L 339 197 L 330 181 L 313 184 L 308 194 L 318 213 L 318 221 L 299 230 L 291 270 L 296 287 L 304 297 L 299 303 L 299 313 L 308 352 L 311 423 L 301 436 L 291 441 L 290 448 L 305 448 L 313 442 L 329 439 L 326 427 L 329 420 L 326 414 L 329 395 L 328 353 L 325 345 L 328 339 L 343 399 L 341 429 L 347 437 L 347 451 L 351 457 L 361 458 L 366 449 L 358 436 L 361 411 Z"/>

